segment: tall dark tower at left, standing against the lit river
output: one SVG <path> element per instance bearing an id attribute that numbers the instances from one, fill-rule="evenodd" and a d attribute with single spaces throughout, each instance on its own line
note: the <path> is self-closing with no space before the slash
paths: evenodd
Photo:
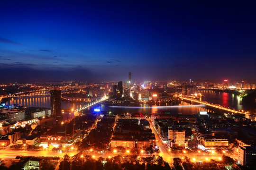
<path id="1" fill-rule="evenodd" d="M 51 88 L 51 113 L 53 116 L 61 116 L 61 90 L 59 88 Z"/>

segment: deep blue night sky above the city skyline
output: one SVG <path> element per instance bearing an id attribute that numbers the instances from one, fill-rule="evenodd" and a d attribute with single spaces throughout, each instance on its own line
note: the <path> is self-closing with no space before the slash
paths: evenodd
<path id="1" fill-rule="evenodd" d="M 256 2 L 176 1 L 0 0 L 0 83 L 256 79 Z"/>

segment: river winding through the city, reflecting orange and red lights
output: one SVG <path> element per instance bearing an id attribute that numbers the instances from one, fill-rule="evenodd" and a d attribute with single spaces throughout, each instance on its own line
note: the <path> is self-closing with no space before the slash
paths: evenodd
<path id="1" fill-rule="evenodd" d="M 207 101 L 209 103 L 220 104 L 225 107 L 229 107 L 235 110 L 242 110 L 243 105 L 241 99 L 238 99 L 236 95 L 232 95 L 230 93 L 225 92 L 214 92 L 211 90 L 202 90 L 200 93 L 203 95 L 201 97 L 202 101 Z M 38 94 L 38 95 L 36 95 Z M 22 97 L 15 97 L 9 98 L 6 104 L 21 104 L 25 107 L 45 107 L 50 108 L 50 94 L 49 92 L 40 92 L 34 93 L 31 96 L 22 96 Z M 188 102 L 181 102 L 181 105 L 188 105 Z M 85 103 L 73 103 L 73 102 L 64 102 L 62 101 L 62 108 L 68 109 L 81 109 L 82 107 L 86 106 Z M 200 107 L 200 106 L 193 106 L 193 107 L 179 107 L 179 108 L 110 108 L 103 104 L 97 105 L 94 107 L 100 108 L 102 111 L 114 111 L 114 112 L 141 112 L 143 114 L 150 114 L 155 113 L 158 111 L 170 111 L 173 113 L 183 113 L 183 114 L 195 114 L 199 111 L 209 111 L 211 112 L 210 108 Z M 87 109 L 87 110 L 90 110 Z"/>

